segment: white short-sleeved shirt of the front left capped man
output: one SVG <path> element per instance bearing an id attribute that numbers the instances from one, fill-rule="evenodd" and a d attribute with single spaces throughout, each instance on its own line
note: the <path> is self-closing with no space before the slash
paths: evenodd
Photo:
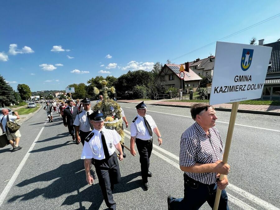
<path id="1" fill-rule="evenodd" d="M 112 155 L 116 150 L 115 145 L 121 140 L 121 136 L 115 129 L 107 129 L 105 126 L 102 128 L 102 132 L 104 133 L 109 155 Z M 101 132 L 94 129 L 91 133 L 94 133 L 94 136 L 89 140 L 89 142 L 85 141 L 81 159 L 94 158 L 96 160 L 103 160 L 105 159 L 105 154 L 101 140 Z M 110 148 L 110 145 L 112 145 L 112 148 Z"/>

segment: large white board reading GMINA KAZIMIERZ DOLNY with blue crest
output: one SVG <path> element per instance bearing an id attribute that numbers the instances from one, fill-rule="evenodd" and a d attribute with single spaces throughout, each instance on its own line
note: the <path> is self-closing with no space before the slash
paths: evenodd
<path id="1" fill-rule="evenodd" d="M 271 50 L 217 42 L 210 105 L 260 98 Z"/>

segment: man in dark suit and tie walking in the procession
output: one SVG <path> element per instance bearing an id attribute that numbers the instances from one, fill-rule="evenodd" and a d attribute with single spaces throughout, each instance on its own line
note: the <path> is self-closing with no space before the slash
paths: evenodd
<path id="1" fill-rule="evenodd" d="M 78 114 L 78 108 L 74 106 L 73 100 L 68 100 L 68 107 L 63 110 L 63 124 L 65 127 L 68 127 L 69 134 L 72 136 L 73 141 L 76 141 L 75 138 L 75 126 L 73 125 L 76 116 Z"/>

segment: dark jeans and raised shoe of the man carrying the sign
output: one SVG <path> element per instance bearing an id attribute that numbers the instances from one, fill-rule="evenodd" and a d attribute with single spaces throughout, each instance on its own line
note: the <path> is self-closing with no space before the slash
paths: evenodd
<path id="1" fill-rule="evenodd" d="M 184 198 L 173 198 L 170 209 L 199 209 L 206 201 L 213 208 L 216 191 L 217 184 L 202 184 L 184 173 Z M 226 190 L 222 190 L 218 209 L 229 210 Z"/>

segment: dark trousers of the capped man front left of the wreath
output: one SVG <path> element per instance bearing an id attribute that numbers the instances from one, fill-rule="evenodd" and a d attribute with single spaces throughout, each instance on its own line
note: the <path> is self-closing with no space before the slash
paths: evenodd
<path id="1" fill-rule="evenodd" d="M 116 209 L 116 202 L 113 199 L 112 191 L 114 184 L 120 182 L 119 162 L 117 154 L 114 152 L 109 159 L 94 160 L 98 182 L 101 187 L 102 195 L 106 206 L 109 209 Z"/>

